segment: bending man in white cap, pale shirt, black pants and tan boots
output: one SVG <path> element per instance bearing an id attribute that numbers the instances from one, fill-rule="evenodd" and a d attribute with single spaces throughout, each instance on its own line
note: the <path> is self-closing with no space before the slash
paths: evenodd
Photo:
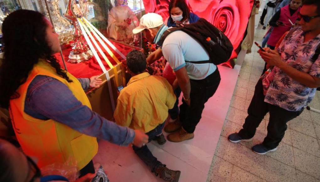
<path id="1" fill-rule="evenodd" d="M 141 17 L 139 27 L 132 30 L 134 34 L 143 31 L 150 43 L 160 46 L 148 58 L 148 64 L 164 56 L 176 74 L 173 88 L 180 87 L 183 93 L 178 120 L 169 123 L 164 131 L 171 133 L 168 140 L 181 142 L 194 138 L 196 125 L 201 119 L 204 103 L 213 96 L 220 83 L 220 73 L 212 63 L 196 64 L 196 61 L 209 60 L 209 54 L 194 38 L 183 31 L 169 34 L 164 41 L 160 40 L 169 28 L 156 13 Z M 199 62 L 200 63 L 200 62 Z"/>

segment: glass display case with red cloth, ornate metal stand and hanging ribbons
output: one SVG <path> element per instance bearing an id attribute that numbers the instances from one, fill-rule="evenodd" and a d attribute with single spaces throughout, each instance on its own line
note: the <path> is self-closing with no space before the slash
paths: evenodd
<path id="1" fill-rule="evenodd" d="M 100 75 L 103 84 L 87 96 L 92 110 L 112 119 L 117 87 L 128 81 L 121 61 L 131 50 L 143 51 L 141 35 L 132 33 L 144 10 L 141 0 L 4 0 L 0 8 L 0 26 L 19 9 L 41 12 L 51 20 L 61 43 L 61 52 L 55 54 L 61 67 L 77 78 Z"/>

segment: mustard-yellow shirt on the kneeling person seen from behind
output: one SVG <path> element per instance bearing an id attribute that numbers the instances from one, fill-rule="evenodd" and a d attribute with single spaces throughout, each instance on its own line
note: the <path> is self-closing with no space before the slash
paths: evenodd
<path id="1" fill-rule="evenodd" d="M 114 118 L 118 125 L 147 133 L 165 121 L 175 101 L 172 86 L 165 78 L 141 73 L 120 92 Z"/>

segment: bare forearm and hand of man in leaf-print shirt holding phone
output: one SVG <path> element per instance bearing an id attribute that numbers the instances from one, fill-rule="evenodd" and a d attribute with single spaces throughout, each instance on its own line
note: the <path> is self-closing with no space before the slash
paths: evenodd
<path id="1" fill-rule="evenodd" d="M 281 60 L 281 57 L 278 51 L 269 50 L 269 52 L 259 51 L 261 58 L 264 59 L 269 65 L 276 66 L 284 71 L 292 79 L 300 82 L 301 84 L 306 85 L 309 88 L 320 87 L 320 78 L 309 75 L 308 73 L 301 72 L 284 61 Z"/>

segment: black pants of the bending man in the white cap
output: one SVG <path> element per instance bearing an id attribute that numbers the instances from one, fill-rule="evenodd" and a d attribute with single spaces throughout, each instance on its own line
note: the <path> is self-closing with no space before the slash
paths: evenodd
<path id="1" fill-rule="evenodd" d="M 218 68 L 214 73 L 207 76 L 203 80 L 191 80 L 191 106 L 189 107 L 186 102 L 182 99 L 182 104 L 180 105 L 180 121 L 182 122 L 182 127 L 188 133 L 193 133 L 196 129 L 196 125 L 201 119 L 201 114 L 204 109 L 204 103 L 208 101 L 210 97 L 218 89 L 220 83 L 220 73 Z"/>

